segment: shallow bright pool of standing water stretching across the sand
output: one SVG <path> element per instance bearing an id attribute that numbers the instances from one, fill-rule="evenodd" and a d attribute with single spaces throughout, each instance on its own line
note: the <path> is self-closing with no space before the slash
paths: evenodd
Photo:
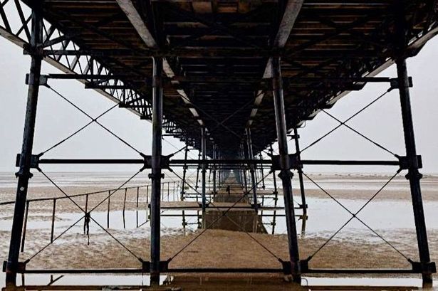
<path id="1" fill-rule="evenodd" d="M 355 212 L 366 202 L 365 200 L 351 200 L 339 199 L 340 203 L 345 205 L 350 211 Z M 337 231 L 340 226 L 348 221 L 351 217 L 350 213 L 341 208 L 335 201 L 331 199 L 316 199 L 309 198 L 308 201 L 308 220 L 306 222 L 306 237 L 328 237 Z M 282 199 L 278 199 L 278 207 L 283 207 Z M 429 230 L 438 230 L 438 202 L 425 201 L 424 213 L 426 215 L 427 228 Z M 297 214 L 301 211 L 296 211 Z M 185 231 L 194 231 L 198 228 L 198 211 L 184 211 L 184 220 L 187 223 Z M 284 211 L 276 211 L 277 214 L 282 215 Z M 163 211 L 162 212 L 162 235 L 180 234 L 182 229 L 182 211 Z M 167 215 L 167 216 L 165 216 Z M 273 211 L 263 211 L 264 225 L 268 231 L 272 231 Z M 82 213 L 56 213 L 55 234 L 61 233 L 64 229 L 71 226 L 71 224 L 78 221 L 83 216 Z M 107 227 L 106 211 L 93 211 L 92 217 L 100 226 Z M 372 201 L 366 206 L 358 215 L 367 225 L 375 228 L 383 233 L 405 233 L 406 231 L 414 231 L 414 218 L 412 214 L 412 205 L 409 201 Z M 121 236 L 141 236 L 142 238 L 149 237 L 149 222 L 145 223 L 147 219 L 147 211 L 140 209 L 139 211 L 127 210 L 125 211 L 125 225 L 123 223 L 122 211 L 110 212 L 110 229 L 118 231 Z M 138 223 L 137 223 L 138 221 Z M 297 221 L 297 228 L 301 230 L 303 221 Z M 137 224 L 141 226 L 142 230 L 137 229 Z M 33 213 L 28 216 L 27 229 L 50 231 L 51 228 L 51 213 Z M 5 213 L 0 214 L 0 231 L 11 230 L 11 219 Z M 139 233 L 136 233 L 139 231 Z M 82 233 L 83 221 L 80 221 L 71 232 Z M 103 230 L 93 221 L 90 222 L 90 232 L 100 233 Z M 284 216 L 276 217 L 276 226 L 274 233 L 286 233 L 286 221 Z M 343 231 L 337 236 L 338 238 L 352 238 L 358 240 L 366 240 L 368 242 L 374 241 L 376 238 L 367 231 L 359 221 L 353 219 L 348 223 Z M 400 238 L 402 239 L 402 237 Z"/>

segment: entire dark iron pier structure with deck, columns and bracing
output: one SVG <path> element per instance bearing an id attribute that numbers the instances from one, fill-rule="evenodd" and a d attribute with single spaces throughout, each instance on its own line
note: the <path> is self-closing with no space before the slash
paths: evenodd
<path id="1" fill-rule="evenodd" d="M 11 19 L 12 11 L 18 15 L 17 18 Z M 16 174 L 18 186 L 16 201 L 13 202 L 15 209 L 11 243 L 9 258 L 4 263 L 7 284 L 16 285 L 19 273 L 108 272 L 150 273 L 151 285 L 160 283 L 160 275 L 168 273 L 277 273 L 291 276 L 291 280 L 296 283 L 301 283 L 303 274 L 313 273 L 421 274 L 424 284 L 431 284 L 436 267 L 429 255 L 424 221 L 419 182 L 422 178 L 419 173 L 422 159 L 415 146 L 410 107 L 412 80 L 407 75 L 406 58 L 417 55 L 424 44 L 438 33 L 437 11 L 437 3 L 432 0 L 2 1 L 0 35 L 24 48 L 24 53 L 31 56 L 31 70 L 26 78 L 28 103 L 24 141 L 16 163 L 19 171 Z M 43 60 L 64 73 L 42 75 Z M 397 76 L 375 77 L 392 64 L 397 65 Z M 51 87 L 56 79 L 80 80 L 85 88 L 98 90 L 113 100 L 115 105 L 102 115 L 91 117 L 86 110 Z M 391 90 L 400 92 L 405 153 L 392 152 L 346 125 L 346 122 L 383 95 L 345 121 L 338 120 L 326 111 L 348 92 L 361 90 L 365 84 L 372 82 L 387 84 L 388 89 L 383 95 Z M 34 153 L 38 92 L 43 86 L 66 100 L 80 114 L 86 115 L 90 119 L 88 125 L 96 123 L 137 152 L 138 158 L 50 158 L 48 152 L 51 149 L 66 142 L 88 125 L 45 152 Z M 142 120 L 152 122 L 152 154 L 140 152 L 100 123 L 99 118 L 115 107 L 126 108 Z M 338 127 L 348 127 L 366 142 L 387 152 L 391 159 L 301 159 L 301 152 L 307 148 L 300 148 L 298 129 L 303 122 L 312 120 L 319 112 L 337 121 Z M 328 134 L 319 137 L 313 144 Z M 171 154 L 163 153 L 164 136 L 175 137 L 186 146 Z M 292 137 L 295 142 L 293 151 L 288 149 L 288 137 Z M 189 149 L 199 152 L 198 159 L 188 158 Z M 174 157 L 182 152 L 184 159 Z M 77 203 L 46 174 L 46 164 L 137 164 L 138 171 L 118 189 L 109 189 L 108 196 L 97 205 L 89 205 L 88 196 L 91 194 L 83 194 L 86 196 L 83 205 Z M 308 179 L 330 196 L 304 171 L 304 167 L 309 164 L 393 166 L 395 176 L 402 171 L 407 174 L 419 250 L 418 258 L 405 257 L 411 268 L 309 267 L 313 255 L 326 243 L 308 258 L 300 258 L 296 220 L 301 219 L 305 228 L 308 219 L 303 179 Z M 188 181 L 189 169 L 197 171 L 196 185 Z M 24 261 L 19 257 L 24 248 L 27 211 L 32 202 L 27 199 L 28 184 L 32 177 L 31 171 L 34 170 L 45 176 L 61 191 L 63 199 L 70 200 L 83 214 L 76 223 L 83 221 L 84 233 L 88 234 L 90 223 L 95 223 L 133 255 L 140 267 L 110 270 L 26 268 L 34 256 Z M 147 186 L 146 223 L 150 225 L 148 259 L 132 252 L 108 231 L 110 197 L 116 192 L 120 193 L 128 182 L 143 171 L 150 173 L 148 176 L 151 181 L 150 188 Z M 174 201 L 165 202 L 163 171 L 170 171 L 166 174 L 177 176 L 179 180 L 179 197 Z M 299 189 L 292 189 L 294 174 Z M 272 185 L 266 187 L 268 176 L 272 179 Z M 137 187 L 137 208 L 139 189 Z M 126 193 L 125 189 L 125 200 Z M 294 203 L 293 194 L 295 198 L 299 197 L 298 203 Z M 169 195 L 167 184 L 167 199 Z M 266 197 L 272 198 L 273 205 L 265 203 Z M 278 199 L 281 199 L 281 206 L 278 206 Z M 367 203 L 359 211 L 353 212 L 333 196 L 330 199 L 350 214 L 350 221 L 358 220 L 400 253 L 358 218 L 358 213 Z M 53 237 L 58 200 L 51 200 L 53 222 L 50 243 L 53 243 L 58 238 Z M 104 203 L 108 203 L 106 228 L 96 221 L 93 213 L 95 208 Z M 177 253 L 163 259 L 160 230 L 161 218 L 166 216 L 162 211 L 166 210 L 179 211 L 175 215 L 182 217 L 185 217 L 186 211 L 196 211 L 194 216 L 197 217 L 200 231 Z M 172 268 L 174 258 L 212 229 L 246 233 L 269 253 L 269 246 L 252 235 L 268 232 L 263 222 L 266 215 L 273 218 L 275 226 L 278 215 L 276 211 L 281 211 L 280 216 L 285 219 L 288 254 L 287 258 L 277 258 L 278 267 Z M 187 226 L 184 219 L 183 227 Z"/>

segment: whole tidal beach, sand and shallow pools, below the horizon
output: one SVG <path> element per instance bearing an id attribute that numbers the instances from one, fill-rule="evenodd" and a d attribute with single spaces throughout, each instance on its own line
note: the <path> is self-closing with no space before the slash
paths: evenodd
<path id="1" fill-rule="evenodd" d="M 107 192 L 105 189 L 118 189 L 123 184 L 123 177 L 129 174 L 53 173 L 51 176 L 65 194 L 60 189 L 47 184 L 43 177 L 36 176 L 32 181 L 33 186 L 29 188 L 28 199 L 61 197 L 66 194 L 71 196 L 93 191 L 103 192 L 88 196 L 88 210 L 95 208 L 91 212 L 93 221 L 90 222 L 89 237 L 83 232 L 83 211 L 80 209 L 85 208 L 85 196 L 60 199 L 56 202 L 53 243 L 50 243 L 52 200 L 31 201 L 24 252 L 20 254 L 21 260 L 31 258 L 26 268 L 140 268 L 140 260 L 149 260 L 150 226 L 147 222 L 147 203 L 150 197 L 147 196 L 147 191 L 150 189 L 145 186 L 149 182 L 145 177 L 123 185 L 130 187 L 126 191 L 119 190 L 111 194 L 110 216 L 108 216 L 108 199 L 105 199 L 112 192 Z M 103 179 L 105 177 L 106 179 Z M 343 226 L 343 223 L 351 218 L 351 214 L 342 206 L 355 213 L 379 191 L 390 176 L 313 174 L 311 179 L 332 197 L 318 189 L 315 184 L 306 181 L 308 220 L 305 230 L 302 229 L 303 220 L 297 218 L 301 259 L 313 255 L 338 231 L 340 226 Z M 180 189 L 172 188 L 173 181 L 176 180 L 172 177 L 167 181 L 170 182 L 169 195 L 165 188 L 163 200 L 178 200 Z M 269 188 L 271 183 L 272 181 L 267 179 L 266 187 Z M 422 186 L 429 248 L 432 260 L 437 261 L 438 177 L 425 176 Z M 194 191 L 187 189 L 189 190 Z M 0 202 L 14 200 L 14 191 L 14 179 L 11 178 L 11 174 L 1 175 Z M 294 193 L 298 194 L 299 191 Z M 300 199 L 299 195 L 294 196 L 297 205 Z M 270 207 L 275 201 L 272 196 L 266 195 L 264 203 L 266 207 Z M 6 260 L 13 205 L 0 207 L 2 207 L 0 257 Z M 277 207 L 283 207 L 281 195 L 278 196 Z M 301 211 L 301 209 L 296 210 L 297 214 Z M 172 213 L 178 214 L 181 211 L 170 210 L 162 213 L 161 240 L 162 260 L 177 254 L 171 260 L 170 268 L 281 268 L 279 260 L 288 260 L 288 240 L 282 216 L 276 217 L 274 229 L 272 229 L 273 215 L 263 218 L 267 233 L 219 229 L 209 229 L 202 233 L 203 230 L 198 229 L 197 226 L 197 211 L 184 212 L 187 215 L 185 227 L 182 227 L 181 216 L 164 216 Z M 272 211 L 264 211 L 264 213 L 272 213 Z M 410 192 L 403 176 L 397 176 L 384 191 L 375 196 L 360 211 L 358 218 L 372 231 L 358 219 L 353 218 L 311 258 L 309 263 L 311 268 L 410 268 L 407 258 L 418 260 Z M 77 223 L 69 228 L 75 222 Z M 68 231 L 64 233 L 66 229 Z M 274 234 L 271 234 L 272 231 Z M 385 238 L 387 242 L 378 236 Z M 188 243 L 190 245 L 184 248 Z M 43 251 L 37 253 L 41 248 L 44 248 Z M 182 248 L 184 250 L 179 253 Z M 181 274 L 178 276 L 184 277 Z"/>

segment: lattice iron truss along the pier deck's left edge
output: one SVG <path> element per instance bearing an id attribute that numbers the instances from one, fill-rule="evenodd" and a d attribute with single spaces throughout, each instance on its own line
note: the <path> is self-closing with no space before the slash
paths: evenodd
<path id="1" fill-rule="evenodd" d="M 14 19 L 14 15 L 18 16 L 18 19 Z M 0 2 L 0 36 L 24 48 L 24 53 L 30 53 L 31 9 L 23 1 L 4 0 Z M 98 55 L 83 51 L 77 43 L 71 40 L 72 37 L 64 34 L 48 21 L 43 21 L 43 45 L 40 49 L 51 52 L 45 55 L 44 60 L 65 74 L 42 75 L 41 85 L 50 79 L 78 80 L 85 84 L 85 88 L 99 92 L 118 103 L 120 107 L 138 115 L 142 120 L 151 121 L 150 103 L 144 95 L 133 89 L 132 84 L 122 80 L 127 76 L 111 73 Z M 183 130 L 170 120 L 163 120 L 163 129 L 167 134 L 172 134 L 177 138 L 182 139 L 185 135 Z"/>

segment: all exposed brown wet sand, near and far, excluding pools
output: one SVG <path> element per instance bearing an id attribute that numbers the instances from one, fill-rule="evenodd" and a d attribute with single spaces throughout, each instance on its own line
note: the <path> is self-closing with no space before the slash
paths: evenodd
<path id="1" fill-rule="evenodd" d="M 336 189 L 332 187 L 330 194 L 339 199 L 360 200 L 369 198 L 375 193 L 372 187 L 378 189 L 377 184 L 383 184 L 387 177 L 376 179 L 375 176 L 355 177 L 360 179 L 371 189 Z M 344 184 L 348 188 L 352 183 L 350 176 L 315 176 L 321 184 L 327 184 L 327 181 L 338 179 L 336 183 Z M 377 181 L 376 181 L 377 180 Z M 438 201 L 438 178 L 428 177 L 424 179 L 424 203 L 429 201 Z M 135 185 L 135 184 L 134 184 Z M 140 185 L 140 184 L 137 184 Z M 344 185 L 344 186 L 345 186 Z M 371 185 L 371 186 L 370 186 Z M 113 185 L 111 185 L 113 186 Z M 400 191 L 399 186 L 407 186 L 404 178 L 397 178 L 395 186 L 382 192 L 380 200 L 397 200 L 410 203 L 410 194 L 408 188 Z M 113 188 L 113 187 L 107 187 Z M 115 187 L 117 188 L 117 187 Z M 340 188 L 343 188 L 341 185 Z M 82 194 L 90 191 L 100 191 L 105 189 L 102 186 L 63 186 L 66 193 Z M 434 191 L 437 189 L 437 191 Z M 376 190 L 377 191 L 377 190 Z M 14 199 L 14 188 L 3 187 L 0 189 L 1 201 Z M 308 197 L 327 198 L 323 192 L 317 189 L 308 189 Z M 51 186 L 37 186 L 30 189 L 29 199 L 41 197 L 63 196 L 57 189 Z M 108 193 L 95 194 L 89 198 L 89 208 L 93 208 L 103 201 Z M 119 191 L 111 197 L 110 210 L 120 211 L 123 208 L 125 191 Z M 130 211 L 137 210 L 136 206 L 137 190 L 127 191 L 125 208 Z M 79 206 L 85 207 L 85 197 L 73 199 Z M 172 200 L 172 198 L 170 198 Z M 147 208 L 146 191 L 140 190 L 139 208 Z M 52 203 L 51 201 L 32 202 L 29 214 L 32 220 L 46 223 L 45 228 L 28 229 L 26 233 L 25 252 L 21 253 L 22 260 L 30 258 L 37 250 L 41 249 L 50 240 L 50 220 Z M 13 206 L 1 206 L 1 221 L 9 221 L 13 213 Z M 106 201 L 102 203 L 96 211 L 107 211 Z M 68 213 L 77 213 L 80 217 L 80 210 L 68 199 L 60 200 L 56 203 L 56 210 Z M 334 213 L 336 215 L 336 213 Z M 60 223 L 60 217 L 57 216 L 56 223 Z M 309 218 L 310 220 L 312 217 Z M 330 219 L 330 218 L 328 218 Z M 93 223 L 92 223 L 93 224 Z M 59 235 L 65 227 L 56 228 L 56 236 Z M 90 245 L 88 237 L 83 234 L 83 223 L 71 228 L 66 234 L 61 236 L 52 245 L 36 255 L 28 263 L 28 268 L 33 269 L 50 269 L 50 268 L 140 268 L 140 260 L 149 260 L 150 253 L 150 228 L 148 224 L 140 228 L 114 229 L 108 230 L 115 238 L 118 238 L 127 248 L 135 253 L 130 254 L 122 248 L 120 244 L 110 238 L 103 230 L 98 230 L 95 226 L 90 231 Z M 168 233 L 162 235 L 162 260 L 172 257 L 178 250 L 182 249 L 192 239 L 197 237 L 201 230 L 190 229 L 183 231 L 182 228 L 172 228 Z M 417 243 L 414 229 L 397 228 L 394 231 L 388 229 L 378 230 L 385 236 L 390 243 L 393 243 L 397 249 L 409 258 L 417 260 Z M 333 232 L 313 233 L 310 236 L 300 237 L 300 255 L 301 258 L 308 258 L 320 245 L 322 245 Z M 438 230 L 429 229 L 429 246 L 432 260 L 438 261 Z M 252 238 L 251 238 L 251 237 Z M 256 243 L 259 241 L 266 245 L 269 253 Z M 9 247 L 9 231 L 0 231 L 0 258 L 4 259 Z M 278 258 L 288 260 L 287 238 L 284 234 L 269 235 L 266 233 L 242 233 L 236 231 L 208 230 L 202 236 L 194 240 L 182 253 L 177 255 L 170 263 L 170 268 L 281 268 Z M 364 239 L 361 233 L 346 232 L 335 237 L 328 245 L 311 260 L 311 268 L 410 268 L 407 262 L 400 254 L 392 250 L 381 240 Z M 178 275 L 182 276 L 181 274 Z"/>

